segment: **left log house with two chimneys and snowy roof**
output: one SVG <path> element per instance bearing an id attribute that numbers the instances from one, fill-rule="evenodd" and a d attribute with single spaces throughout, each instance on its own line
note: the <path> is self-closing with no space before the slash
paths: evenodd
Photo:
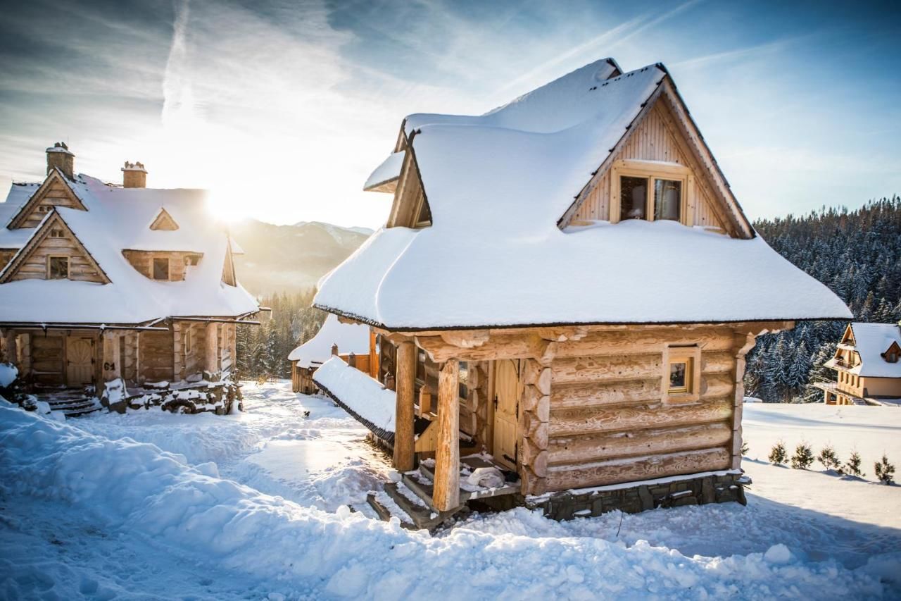
<path id="1" fill-rule="evenodd" d="M 223 381 L 236 324 L 259 306 L 205 190 L 145 188 L 140 162 L 108 184 L 74 158 L 51 146 L 47 177 L 0 205 L 5 359 L 36 392 Z"/>

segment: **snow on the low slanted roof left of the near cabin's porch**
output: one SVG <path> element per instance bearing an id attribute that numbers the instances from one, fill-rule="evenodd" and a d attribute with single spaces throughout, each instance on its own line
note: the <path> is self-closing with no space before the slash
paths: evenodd
<path id="1" fill-rule="evenodd" d="M 341 357 L 333 356 L 323 363 L 314 372 L 313 380 L 355 414 L 355 418 L 369 421 L 367 427 L 395 431 L 394 391 L 387 390 L 356 367 L 350 367 Z"/>

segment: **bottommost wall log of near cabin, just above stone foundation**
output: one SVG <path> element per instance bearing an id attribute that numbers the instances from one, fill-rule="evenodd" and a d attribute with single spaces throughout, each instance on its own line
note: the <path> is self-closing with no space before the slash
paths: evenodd
<path id="1" fill-rule="evenodd" d="M 649 480 L 665 476 L 682 476 L 718 469 L 729 469 L 731 453 L 717 447 L 700 451 L 645 456 L 629 460 L 612 459 L 578 467 L 549 467 L 548 490 L 566 490 Z"/>

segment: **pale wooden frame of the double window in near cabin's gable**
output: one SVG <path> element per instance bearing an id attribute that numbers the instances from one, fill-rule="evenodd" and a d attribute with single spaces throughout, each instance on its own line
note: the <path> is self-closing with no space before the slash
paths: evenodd
<path id="1" fill-rule="evenodd" d="M 644 221 L 654 220 L 654 180 L 681 182 L 678 223 L 691 227 L 695 224 L 695 178 L 685 165 L 676 163 L 620 159 L 610 168 L 610 223 L 620 222 L 622 203 L 620 199 L 620 178 L 641 178 L 648 180 L 644 198 Z M 690 214 L 689 214 L 690 213 Z M 669 219 L 668 219 L 669 221 Z"/>

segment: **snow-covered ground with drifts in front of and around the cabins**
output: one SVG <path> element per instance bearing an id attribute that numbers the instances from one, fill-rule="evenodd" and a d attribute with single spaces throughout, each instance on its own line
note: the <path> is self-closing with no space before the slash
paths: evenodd
<path id="1" fill-rule="evenodd" d="M 0 402 L 0 597 L 901 597 L 901 487 L 755 460 L 831 441 L 871 480 L 883 450 L 901 463 L 895 408 L 746 405 L 747 507 L 518 509 L 432 537 L 371 519 L 387 458 L 343 411 L 288 383 L 244 392 L 225 417 L 59 423 Z"/>

